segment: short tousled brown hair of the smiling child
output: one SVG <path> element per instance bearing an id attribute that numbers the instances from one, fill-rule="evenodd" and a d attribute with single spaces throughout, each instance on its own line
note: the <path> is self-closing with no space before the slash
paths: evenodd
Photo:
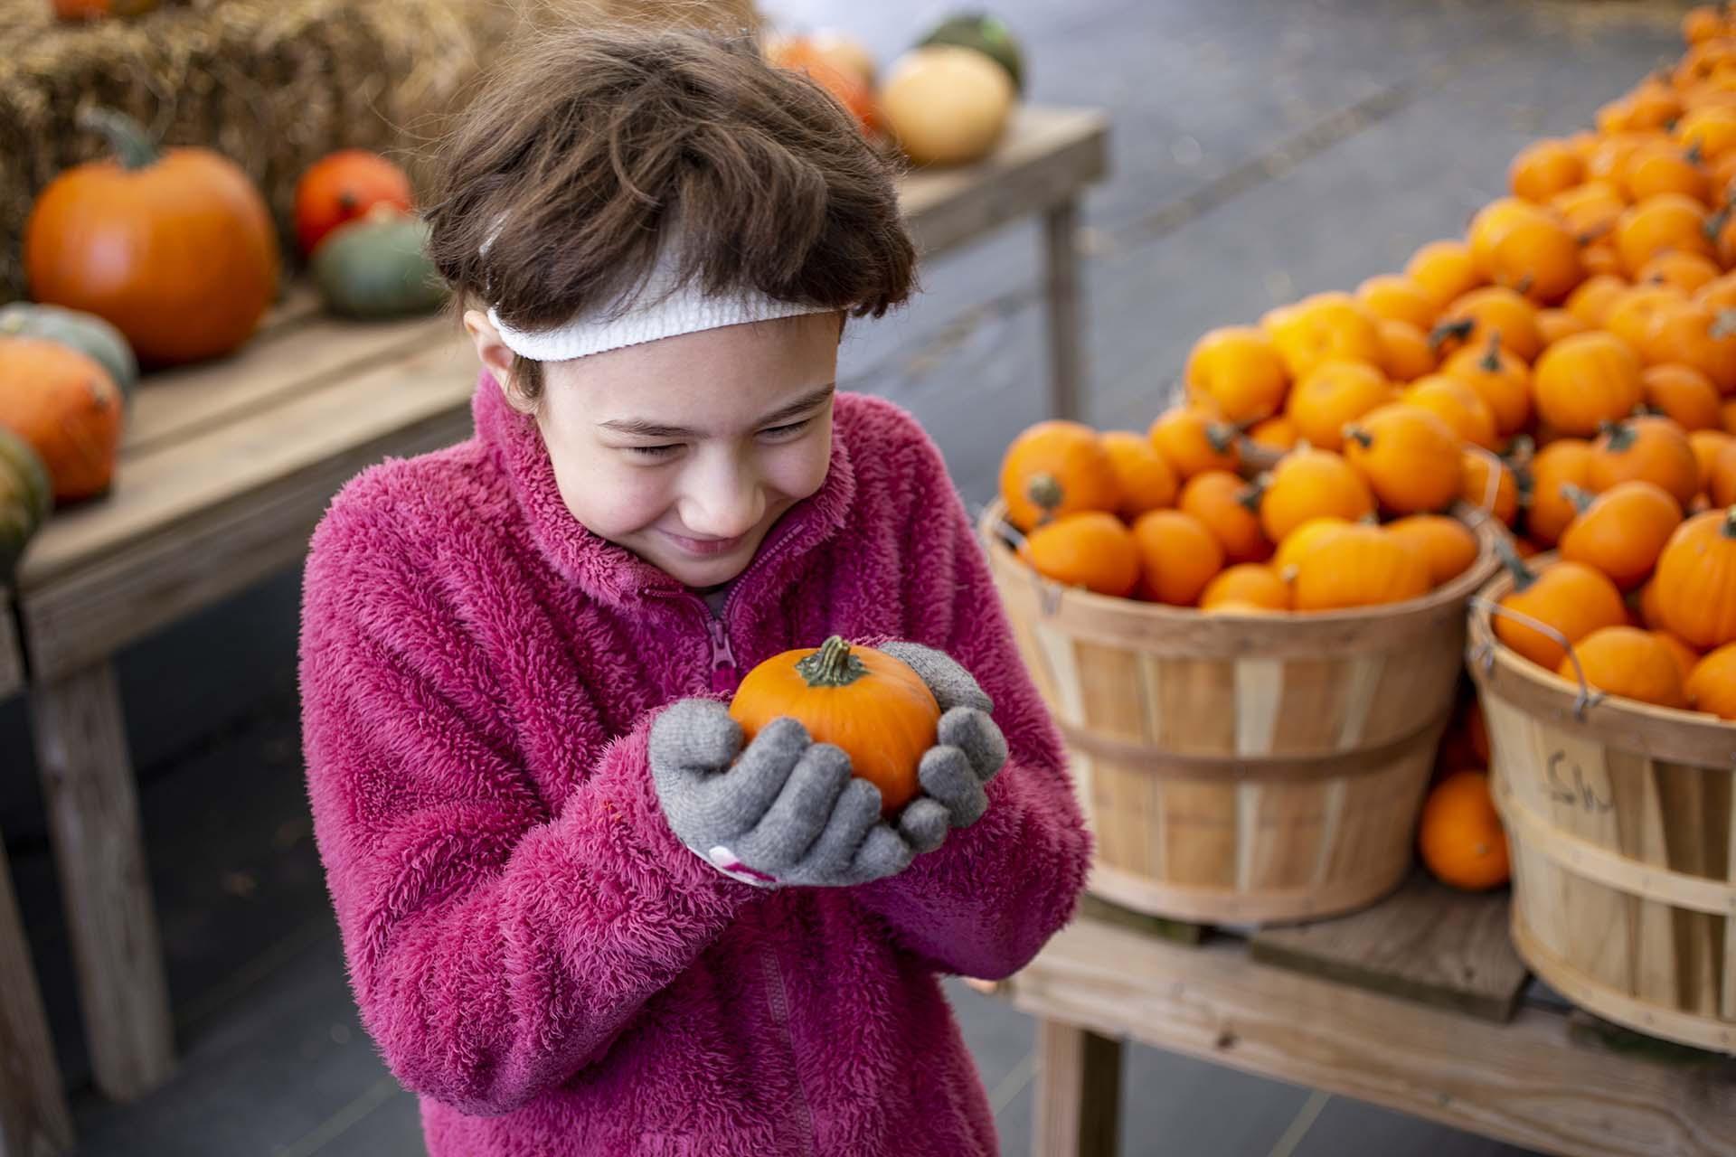
<path id="1" fill-rule="evenodd" d="M 630 297 L 677 213 L 677 278 L 707 293 L 878 317 L 913 290 L 894 172 L 746 36 L 542 29 L 446 135 L 425 208 L 460 309 L 519 330 Z M 538 363 L 517 359 L 514 383 L 536 399 Z"/>

